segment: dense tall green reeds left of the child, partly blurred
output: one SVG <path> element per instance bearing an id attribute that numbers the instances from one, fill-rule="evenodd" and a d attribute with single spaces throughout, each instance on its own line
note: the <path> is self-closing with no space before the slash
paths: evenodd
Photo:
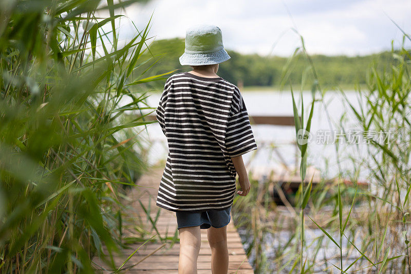
<path id="1" fill-rule="evenodd" d="M 119 46 L 115 11 L 136 1 L 100 2 L 0 3 L 2 273 L 94 272 L 95 254 L 114 267 L 119 197 L 146 168 L 152 122 L 132 87 L 164 77 L 135 70 L 150 22 Z"/>

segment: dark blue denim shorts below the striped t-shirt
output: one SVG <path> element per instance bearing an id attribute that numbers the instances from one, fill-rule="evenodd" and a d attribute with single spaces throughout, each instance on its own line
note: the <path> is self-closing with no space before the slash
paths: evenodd
<path id="1" fill-rule="evenodd" d="M 224 210 L 207 210 L 202 212 L 176 211 L 178 229 L 188 226 L 200 226 L 200 229 L 227 226 L 231 220 L 231 206 Z"/>

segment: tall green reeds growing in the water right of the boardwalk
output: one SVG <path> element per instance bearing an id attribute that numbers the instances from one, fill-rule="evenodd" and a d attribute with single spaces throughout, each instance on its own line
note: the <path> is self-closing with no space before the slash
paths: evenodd
<path id="1" fill-rule="evenodd" d="M 405 36 L 404 36 L 405 38 Z M 316 88 L 319 90 L 320 94 L 324 95 L 324 93 L 322 92 L 321 88 L 320 88 L 320 84 L 318 82 L 318 78 L 316 75 L 316 71 L 315 71 L 315 66 L 312 63 L 312 61 L 310 60 L 308 54 L 306 54 L 306 50 L 305 50 L 305 46 L 304 46 L 304 40 L 302 39 L 302 48 L 301 48 L 302 52 L 304 53 L 303 55 L 307 58 L 307 71 L 310 71 L 311 74 L 311 79 L 313 80 L 313 88 L 311 90 L 311 92 L 313 93 L 313 102 L 315 101 L 314 99 L 314 93 Z M 388 225 L 390 223 L 390 213 L 392 213 L 392 209 L 391 210 L 383 210 L 383 208 L 385 208 L 385 203 L 391 203 L 391 199 L 386 199 L 386 197 L 392 197 L 392 195 L 394 194 L 393 190 L 393 186 L 396 185 L 397 186 L 397 192 L 398 192 L 398 196 L 400 197 L 401 200 L 401 186 L 403 188 L 403 195 L 405 194 L 405 198 L 404 198 L 404 205 L 407 202 L 407 197 L 408 197 L 408 193 L 409 193 L 409 167 L 408 167 L 408 159 L 409 159 L 409 149 L 405 149 L 405 151 L 401 151 L 399 150 L 397 147 L 400 146 L 402 147 L 401 143 L 405 143 L 408 140 L 406 140 L 407 138 L 398 138 L 399 136 L 409 136 L 410 132 L 409 132 L 409 127 L 408 126 L 404 126 L 404 121 L 408 121 L 409 117 L 409 111 L 407 109 L 404 109 L 404 106 L 406 108 L 407 106 L 407 102 L 406 100 L 408 99 L 408 94 L 409 94 L 409 77 L 404 77 L 405 75 L 407 75 L 408 73 L 408 69 L 409 69 L 409 62 L 408 64 L 406 64 L 406 59 L 409 58 L 409 53 L 408 51 L 406 51 L 404 49 L 404 47 L 401 49 L 401 54 L 398 54 L 394 48 L 392 49 L 393 52 L 393 56 L 394 58 L 398 59 L 399 62 L 397 62 L 396 64 L 394 64 L 391 69 L 390 69 L 390 73 L 387 74 L 387 72 L 379 72 L 377 71 L 376 67 L 379 65 L 378 63 L 373 64 L 370 67 L 370 70 L 367 72 L 367 88 L 368 90 L 358 90 L 359 92 L 359 97 L 358 98 L 365 98 L 366 100 L 366 104 L 365 107 L 363 107 L 363 104 L 360 102 L 360 109 L 356 109 L 356 107 L 353 106 L 353 104 L 351 102 L 349 102 L 349 100 L 347 99 L 346 102 L 350 107 L 350 110 L 355 114 L 357 120 L 358 120 L 358 124 L 360 125 L 362 128 L 362 132 L 365 133 L 364 137 L 368 138 L 370 144 L 370 146 L 368 146 L 368 151 L 369 154 L 372 155 L 371 158 L 367 158 L 367 159 L 363 159 L 362 162 L 366 162 L 367 163 L 367 168 L 368 170 L 371 172 L 371 174 L 373 174 L 373 176 L 371 178 L 369 178 L 369 183 L 370 186 L 375 186 L 375 184 L 377 185 L 383 185 L 384 186 L 384 192 L 381 193 L 382 196 L 380 196 L 381 194 L 377 194 L 375 192 L 375 189 L 370 188 L 368 191 L 362 192 L 361 194 L 367 195 L 369 197 L 368 199 L 368 205 L 369 205 L 369 210 L 367 212 L 371 212 L 371 215 L 368 215 L 368 221 L 370 223 L 373 223 L 375 230 L 374 231 L 369 231 L 370 233 L 368 233 L 369 235 L 367 237 L 369 237 L 369 239 L 374 239 L 375 242 L 373 243 L 373 247 L 371 249 L 371 254 L 373 256 L 373 258 L 370 255 L 366 255 L 365 253 L 367 251 L 368 248 L 367 247 L 357 247 L 356 244 L 354 244 L 354 239 L 351 238 L 351 236 L 353 235 L 353 233 L 349 233 L 348 235 L 345 233 L 345 229 L 347 228 L 347 224 L 348 222 L 352 219 L 351 216 L 351 212 L 353 210 L 353 205 L 354 205 L 354 199 L 356 198 L 356 194 L 357 194 L 357 189 L 356 192 L 354 193 L 354 197 L 352 200 L 352 203 L 349 207 L 349 210 L 347 213 L 344 213 L 344 204 L 343 204 L 343 199 L 342 199 L 342 195 L 341 195 L 341 178 L 340 176 L 342 176 L 343 174 L 341 174 L 341 166 L 340 166 L 340 156 L 339 156 L 339 144 L 338 142 L 335 143 L 335 152 L 336 152 L 336 158 L 337 158 L 337 163 L 339 165 L 340 168 L 340 174 L 337 180 L 337 199 L 336 199 L 336 204 L 337 204 L 337 210 L 338 210 L 338 222 L 337 222 L 337 227 L 339 230 L 339 238 L 335 239 L 334 236 L 332 236 L 329 232 L 326 231 L 326 229 L 324 229 L 322 226 L 320 226 L 315 220 L 313 220 L 313 218 L 311 218 L 310 216 L 310 220 L 315 224 L 315 226 L 317 226 L 323 233 L 324 235 L 333 243 L 335 244 L 335 246 L 337 246 L 337 248 L 339 249 L 339 261 L 340 261 L 340 266 L 337 266 L 335 264 L 332 264 L 336 269 L 338 269 L 341 273 L 345 273 L 347 272 L 351 267 L 353 266 L 357 266 L 360 265 L 360 263 L 362 264 L 361 266 L 363 266 L 365 264 L 365 262 L 363 262 L 364 260 L 367 261 L 367 263 L 369 263 L 371 267 L 375 267 L 376 270 L 378 272 L 381 272 L 384 267 L 386 266 L 386 263 L 395 259 L 398 259 L 400 257 L 403 256 L 403 254 L 401 253 L 394 253 L 394 252 L 389 252 L 390 251 L 390 245 L 388 245 L 387 247 L 387 243 L 386 241 L 386 236 L 387 236 L 387 228 Z M 305 81 L 305 77 L 303 76 L 303 80 L 302 83 L 304 84 Z M 302 86 L 303 86 L 302 84 Z M 340 89 L 341 90 L 341 89 Z M 389 91 L 388 91 L 389 90 Z M 344 96 L 344 92 L 343 90 L 341 90 L 342 95 Z M 389 100 L 387 102 L 387 99 Z M 399 100 L 399 101 L 398 101 Z M 382 102 L 387 102 L 387 105 L 384 105 L 384 103 Z M 303 100 L 301 98 L 301 102 L 302 102 L 302 106 L 301 106 L 301 112 L 303 115 Z M 321 102 L 323 103 L 325 109 L 327 110 L 326 105 L 324 104 L 324 101 L 321 100 Z M 381 102 L 381 104 L 379 103 Z M 298 131 L 301 131 L 302 129 L 302 122 L 303 122 L 303 118 L 301 118 L 301 121 L 299 121 L 297 119 L 297 109 L 294 103 L 294 97 L 293 97 L 293 104 L 294 104 L 294 120 L 295 122 L 295 129 L 297 132 L 297 138 L 301 137 L 298 135 Z M 312 103 L 313 104 L 313 103 Z M 399 106 L 403 106 L 403 107 L 399 107 Z M 311 123 L 311 117 L 312 117 L 312 108 L 313 106 L 311 105 L 311 112 L 310 112 L 310 116 L 309 119 L 307 121 L 307 129 L 306 131 L 304 131 L 304 134 L 308 134 L 309 133 L 309 125 Z M 328 112 L 327 112 L 328 114 Z M 385 115 L 392 115 L 393 117 L 398 117 L 398 119 L 386 119 L 384 116 Z M 329 117 L 328 117 L 329 118 Z M 330 121 L 330 119 L 329 119 Z M 384 123 L 384 121 L 386 121 Z M 397 122 L 397 123 L 396 123 Z M 353 125 L 350 125 L 353 126 Z M 366 136 L 367 132 L 369 132 L 370 130 L 373 131 L 381 131 L 384 134 L 384 140 L 387 138 L 386 134 L 387 132 L 399 132 L 401 129 L 401 133 L 400 135 L 395 135 L 394 137 L 394 141 L 393 143 L 379 143 L 378 141 L 375 140 L 375 136 Z M 331 129 L 332 130 L 332 127 Z M 405 132 L 404 132 L 405 131 Z M 348 132 L 348 129 L 345 129 L 344 132 Z M 404 135 L 402 135 L 404 134 Z M 398 144 L 398 140 L 400 141 L 400 144 Z M 391 147 L 394 145 L 394 148 Z M 311 190 L 311 188 L 308 188 L 305 192 L 303 191 L 303 187 L 304 187 L 304 174 L 305 171 L 303 169 L 303 164 L 304 162 L 306 162 L 306 159 L 304 158 L 306 155 L 304 154 L 305 150 L 304 147 L 299 147 L 301 150 L 301 163 L 302 163 L 302 168 L 300 169 L 300 174 L 302 175 L 302 184 L 301 184 L 301 209 L 303 210 L 306 206 L 307 200 L 309 198 L 309 192 Z M 376 150 L 377 149 L 377 150 Z M 399 152 L 400 153 L 400 157 L 396 157 L 395 155 L 393 155 L 393 152 Z M 405 157 L 404 157 L 405 156 Z M 380 161 L 379 159 L 384 159 L 383 161 Z M 390 171 L 390 169 L 392 169 L 393 166 L 393 161 L 396 165 L 394 165 L 396 168 L 394 169 L 394 172 L 391 173 L 392 171 Z M 400 165 L 398 165 L 400 163 Z M 358 165 L 359 163 L 356 163 L 356 165 Z M 378 168 L 374 168 L 371 167 L 371 165 L 377 166 Z M 404 167 L 405 165 L 405 167 Z M 403 169 L 399 168 L 402 167 Z M 385 171 L 385 172 L 384 172 Z M 381 181 L 381 177 L 377 176 L 381 174 L 381 176 L 384 178 L 384 181 Z M 400 174 L 400 175 L 399 175 Z M 355 177 L 355 174 L 352 174 L 353 177 Z M 393 179 L 393 176 L 395 175 L 395 181 Z M 404 178 L 405 176 L 405 178 Z M 376 181 L 375 179 L 379 178 L 380 181 Z M 391 177 L 391 179 L 387 182 L 386 179 L 387 177 Z M 408 184 L 405 184 L 405 188 L 404 188 L 404 184 L 399 184 L 398 182 L 398 177 L 400 178 L 404 178 L 404 181 L 408 181 Z M 311 186 L 311 184 L 310 184 Z M 304 193 L 304 194 L 303 194 Z M 377 198 L 377 200 L 371 200 L 370 198 L 374 197 Z M 381 201 L 381 205 L 379 206 L 379 202 Z M 402 213 L 401 218 L 402 218 L 402 222 L 404 224 L 403 228 L 404 228 L 404 241 L 406 244 L 406 247 L 404 249 L 405 254 L 407 255 L 406 258 L 408 258 L 408 240 L 407 240 L 407 233 L 406 233 L 406 228 L 405 228 L 405 223 L 406 223 L 406 218 L 403 215 L 403 210 L 402 207 L 397 206 L 398 210 L 400 211 L 400 213 Z M 377 209 L 377 210 L 375 210 Z M 301 212 L 303 212 L 301 210 Z M 379 213 L 386 213 L 387 217 L 383 217 L 383 216 L 379 216 Z M 364 212 L 363 212 L 364 213 Z M 346 215 L 345 215 L 346 214 Z M 345 218 L 345 221 L 344 221 Z M 382 218 L 380 220 L 380 218 Z M 383 225 L 381 224 L 381 222 L 386 222 L 383 223 Z M 356 220 L 354 220 L 355 222 Z M 401 220 L 397 220 L 397 222 L 399 222 Z M 305 272 L 305 263 L 303 264 L 303 252 L 304 252 L 304 216 L 302 213 L 302 217 L 301 217 L 301 257 L 300 257 L 300 264 L 301 264 L 301 272 Z M 383 231 L 381 231 L 381 228 L 385 228 L 383 229 Z M 396 230 L 398 228 L 393 228 L 393 230 Z M 351 238 L 351 239 L 350 239 Z M 345 254 L 343 254 L 343 240 L 347 240 L 349 245 L 351 245 L 353 248 L 355 248 L 358 251 L 358 258 L 356 260 L 354 260 L 350 265 L 344 265 L 343 264 L 343 260 L 345 260 Z M 369 245 L 367 245 L 369 246 Z M 349 247 L 347 247 L 349 248 Z M 383 252 L 384 251 L 384 252 Z M 382 253 L 383 252 L 383 253 Z M 345 253 L 345 252 L 344 252 Z M 357 263 L 357 265 L 355 265 Z M 380 265 L 381 264 L 381 265 Z M 405 263 L 403 262 L 403 265 Z M 407 261 L 407 265 L 408 265 L 408 270 L 409 270 L 409 262 Z"/>

